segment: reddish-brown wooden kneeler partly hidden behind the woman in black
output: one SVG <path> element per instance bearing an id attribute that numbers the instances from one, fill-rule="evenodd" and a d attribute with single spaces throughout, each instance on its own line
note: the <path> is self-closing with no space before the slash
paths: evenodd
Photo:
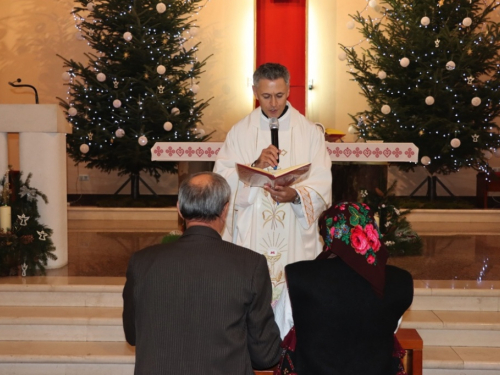
<path id="1" fill-rule="evenodd" d="M 423 341 L 416 329 L 400 328 L 396 336 L 401 346 L 407 350 L 403 362 L 408 375 L 422 375 Z M 254 371 L 255 375 L 272 375 L 273 369 Z"/>

